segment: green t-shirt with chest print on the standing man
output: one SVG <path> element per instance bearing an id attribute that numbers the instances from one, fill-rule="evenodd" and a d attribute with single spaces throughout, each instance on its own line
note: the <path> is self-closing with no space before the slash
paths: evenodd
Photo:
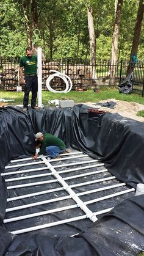
<path id="1" fill-rule="evenodd" d="M 24 74 L 26 75 L 37 74 L 37 56 L 21 57 L 20 67 L 24 67 Z"/>

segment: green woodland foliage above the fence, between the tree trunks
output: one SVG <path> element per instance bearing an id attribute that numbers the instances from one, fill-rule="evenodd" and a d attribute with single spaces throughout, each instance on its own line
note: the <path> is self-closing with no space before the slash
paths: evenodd
<path id="1" fill-rule="evenodd" d="M 21 56 L 27 46 L 26 16 L 32 1 L 0 0 L 0 56 Z M 30 4 L 30 5 L 29 5 Z M 82 57 L 89 59 L 89 37 L 87 7 L 93 8 L 96 34 L 96 59 L 110 59 L 113 23 L 115 20 L 115 0 L 49 0 L 35 1 L 38 14 L 37 37 L 33 27 L 33 40 L 37 41 L 49 59 L 49 43 L 52 40 L 53 59 Z M 124 0 L 121 14 L 119 59 L 129 59 L 138 1 Z M 32 17 L 30 17 L 32 19 Z M 52 38 L 50 31 L 52 32 Z M 137 57 L 143 59 L 144 27 L 139 42 Z"/>

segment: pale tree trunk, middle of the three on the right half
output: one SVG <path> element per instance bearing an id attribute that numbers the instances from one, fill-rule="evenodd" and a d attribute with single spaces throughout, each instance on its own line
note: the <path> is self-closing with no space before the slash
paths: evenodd
<path id="1" fill-rule="evenodd" d="M 118 0 L 117 13 L 115 17 L 115 24 L 113 29 L 112 38 L 112 54 L 111 54 L 111 68 L 110 68 L 110 78 L 115 77 L 115 65 L 117 64 L 117 51 L 118 51 L 118 37 L 120 33 L 120 17 L 121 9 L 123 5 L 123 0 Z"/>

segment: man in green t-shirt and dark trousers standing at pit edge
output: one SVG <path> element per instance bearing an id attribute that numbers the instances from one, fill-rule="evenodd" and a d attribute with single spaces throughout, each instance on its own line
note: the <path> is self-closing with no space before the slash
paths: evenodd
<path id="1" fill-rule="evenodd" d="M 23 75 L 24 68 L 24 75 Z M 23 111 L 27 111 L 29 104 L 29 92 L 32 91 L 31 107 L 32 109 L 38 109 L 36 107 L 37 100 L 37 56 L 32 55 L 31 47 L 26 48 L 26 56 L 20 59 L 20 77 L 24 87 L 24 98 L 23 98 Z"/>

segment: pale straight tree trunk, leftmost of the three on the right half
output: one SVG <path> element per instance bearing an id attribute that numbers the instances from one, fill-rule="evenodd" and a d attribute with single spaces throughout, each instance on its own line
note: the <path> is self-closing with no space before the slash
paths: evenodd
<path id="1" fill-rule="evenodd" d="M 93 23 L 93 10 L 92 7 L 88 7 L 87 9 L 87 17 L 88 17 L 88 31 L 90 38 L 90 64 L 92 65 L 93 71 L 92 75 L 95 76 L 95 61 L 96 61 L 96 38 L 95 38 L 95 29 Z"/>

